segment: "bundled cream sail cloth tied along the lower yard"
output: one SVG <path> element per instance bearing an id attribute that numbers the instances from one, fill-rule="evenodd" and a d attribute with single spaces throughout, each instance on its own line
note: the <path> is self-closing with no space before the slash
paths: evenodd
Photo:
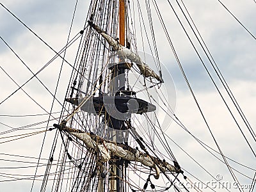
<path id="1" fill-rule="evenodd" d="M 159 178 L 160 169 L 168 170 L 170 172 L 176 172 L 176 169 L 171 164 L 165 163 L 164 166 L 161 164 L 155 164 L 150 156 L 147 154 L 140 152 L 140 150 L 136 150 L 135 153 L 132 153 L 129 150 L 125 150 L 124 148 L 116 145 L 115 143 L 110 143 L 103 141 L 102 144 L 97 144 L 94 140 L 92 140 L 91 136 L 88 133 L 79 133 L 79 132 L 70 132 L 70 134 L 76 136 L 79 140 L 83 141 L 86 147 L 92 148 L 94 150 L 99 150 L 100 152 L 100 161 L 106 162 L 111 159 L 111 154 L 121 157 L 122 159 L 128 161 L 137 161 L 141 164 L 148 166 L 150 168 L 154 168 L 156 170 L 155 178 Z"/>

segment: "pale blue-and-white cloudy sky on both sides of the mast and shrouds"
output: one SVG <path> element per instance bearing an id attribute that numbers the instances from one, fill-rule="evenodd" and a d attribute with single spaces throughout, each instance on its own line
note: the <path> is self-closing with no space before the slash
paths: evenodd
<path id="1" fill-rule="evenodd" d="M 212 78 L 220 88 L 220 92 L 227 101 L 230 110 L 234 111 L 234 116 L 237 123 L 243 130 L 246 138 L 252 145 L 252 148 L 256 152 L 256 143 L 252 136 L 243 124 L 239 114 L 237 113 L 234 105 L 228 95 L 225 92 L 220 81 L 214 74 L 209 61 L 205 57 L 204 52 L 200 49 L 199 44 L 196 42 L 195 36 L 189 29 L 188 24 L 182 13 L 179 11 L 179 7 L 175 1 L 171 1 L 173 7 L 180 17 L 184 27 L 188 29 L 188 34 L 191 36 L 191 40 L 195 43 L 196 48 L 202 60 L 204 61 L 207 68 L 209 68 Z M 248 29 L 254 36 L 256 36 L 256 3 L 253 0 L 237 0 L 236 2 L 231 0 L 221 1 L 228 10 L 232 12 L 237 19 Z M 68 30 L 70 28 L 70 22 L 74 11 L 74 1 L 12 1 L 2 0 L 6 8 L 11 10 L 20 20 L 22 20 L 29 28 L 31 28 L 40 38 L 42 38 L 47 44 L 49 44 L 55 51 L 60 49 L 66 44 Z M 182 30 L 179 21 L 175 17 L 172 8 L 166 1 L 157 1 L 159 3 L 159 9 L 163 15 L 166 28 L 170 34 L 173 45 L 179 56 L 180 63 L 184 67 L 184 71 L 188 77 L 189 83 L 193 88 L 196 99 L 202 111 L 204 112 L 205 118 L 211 127 L 218 144 L 225 156 L 234 159 L 241 164 L 244 164 L 252 169 L 244 168 L 239 166 L 232 161 L 228 161 L 230 166 L 236 168 L 239 172 L 252 178 L 256 167 L 255 167 L 255 156 L 248 147 L 244 140 L 236 122 L 232 119 L 228 109 L 225 106 L 220 95 L 216 91 L 216 88 L 211 82 L 211 79 L 205 72 L 202 62 L 198 59 L 196 52 L 191 46 L 188 37 Z M 199 1 L 185 0 L 186 8 L 193 18 L 200 34 L 204 38 L 205 44 L 210 50 L 214 61 L 220 68 L 221 73 L 225 77 L 225 80 L 234 93 L 237 102 L 243 109 L 243 113 L 250 122 L 253 130 L 255 130 L 256 119 L 255 119 L 255 104 L 256 104 L 256 40 L 252 35 L 248 33 L 230 13 L 223 8 L 218 1 Z M 70 36 L 76 35 L 84 26 L 84 20 L 86 12 L 88 10 L 87 1 L 79 1 L 77 6 L 76 17 L 74 19 L 74 26 Z M 179 120 L 193 133 L 198 139 L 204 141 L 207 145 L 216 150 L 211 134 L 204 123 L 198 108 L 196 107 L 193 97 L 189 92 L 188 86 L 182 77 L 177 61 L 173 56 L 170 46 L 167 44 L 166 38 L 164 38 L 163 29 L 159 21 L 157 21 L 156 14 L 154 16 L 155 34 L 157 40 L 157 48 L 159 50 L 160 60 L 163 65 L 169 70 L 169 73 L 164 72 L 164 81 L 170 82 L 170 76 L 173 78 L 176 90 L 176 110 L 175 113 Z M 52 57 L 54 52 L 49 49 L 42 41 L 40 41 L 35 35 L 33 35 L 28 29 L 26 29 L 20 22 L 15 19 L 10 13 L 8 13 L 3 6 L 0 10 L 0 36 L 3 40 L 12 47 L 13 51 L 20 57 L 24 63 L 32 70 L 37 72 L 42 68 Z M 26 66 L 13 54 L 13 52 L 4 44 L 1 40 L 0 44 L 0 102 L 6 97 L 11 95 L 17 90 L 17 84 L 22 85 L 33 74 L 26 68 Z M 140 40 L 139 40 L 140 42 Z M 139 43 L 140 44 L 140 43 Z M 140 45 L 138 45 L 140 47 Z M 77 44 L 74 44 L 68 49 L 67 60 L 70 63 L 74 62 Z M 70 76 L 70 70 L 72 69 L 66 63 L 63 65 L 63 72 L 60 77 L 60 84 L 56 92 L 58 100 L 63 101 L 65 92 Z M 58 74 L 60 72 L 61 60 L 57 59 L 46 67 L 38 78 L 42 81 L 45 86 L 49 89 L 49 92 L 54 93 L 56 83 L 58 81 Z M 17 83 L 15 84 L 10 77 L 8 77 L 4 71 L 12 77 Z M 165 85 L 168 87 L 168 84 Z M 24 86 L 24 91 L 31 95 L 42 108 L 46 111 L 51 110 L 52 96 L 51 94 L 38 82 L 37 79 L 33 78 Z M 10 117 L 3 115 L 31 115 L 31 114 L 42 114 L 45 113 L 44 109 L 38 107 L 33 100 L 31 100 L 26 93 L 19 90 L 14 93 L 10 99 L 5 100 L 0 105 L 0 123 L 1 131 L 10 131 L 13 128 L 22 127 L 24 125 L 33 124 L 47 120 L 48 116 L 27 116 L 27 117 Z M 60 111 L 60 105 L 56 102 L 52 111 Z M 58 115 L 54 115 L 58 117 Z M 53 122 L 50 122 L 52 125 Z M 46 124 L 39 125 L 38 127 L 44 127 Z M 38 129 L 39 131 L 42 129 Z M 31 130 L 35 132 L 36 130 Z M 28 132 L 28 131 L 27 131 Z M 24 134 L 26 132 L 10 132 L 3 134 L 3 136 L 13 136 L 15 134 Z M 48 134 L 48 133 L 47 133 Z M 175 141 L 179 147 L 184 151 L 188 152 L 189 156 L 193 157 L 201 166 L 203 166 L 208 172 L 214 177 L 220 174 L 223 177 L 223 181 L 233 182 L 230 173 L 228 173 L 225 164 L 221 163 L 218 159 L 213 157 L 207 152 L 202 146 L 200 146 L 194 138 L 192 138 L 187 132 L 185 132 L 179 125 L 172 122 L 172 125 L 166 130 L 166 134 Z M 51 147 L 51 141 L 53 136 L 46 137 L 45 148 L 43 150 L 43 157 L 47 158 L 47 148 Z M 38 157 L 42 146 L 44 133 L 36 136 L 31 136 L 28 139 L 24 138 L 17 141 L 8 143 L 1 143 L 0 152 L 0 181 L 12 180 L 12 177 L 20 178 L 29 177 L 35 173 L 34 168 L 27 168 L 22 172 L 17 172 L 10 168 L 10 166 L 22 166 L 18 163 L 10 163 L 12 160 L 17 161 L 31 161 L 36 162 L 35 159 L 26 159 L 17 156 L 29 156 Z M 3 140 L 4 141 L 4 140 Z M 0 142 L 3 142 L 2 140 Z M 173 154 L 179 161 L 180 166 L 192 173 L 198 179 L 204 180 L 204 182 L 211 181 L 212 177 L 205 172 L 198 164 L 195 163 L 187 154 L 185 154 L 175 143 L 169 140 L 170 145 L 173 149 Z M 45 152 L 45 153 L 44 153 Z M 221 156 L 213 152 L 216 156 L 221 159 Z M 6 154 L 9 154 L 7 156 Z M 16 155 L 15 157 L 10 155 Z M 10 161 L 3 161 L 3 159 L 9 159 Z M 45 161 L 47 163 L 47 161 Z M 35 166 L 35 164 L 32 164 Z M 196 182 L 189 173 L 186 173 L 189 179 Z M 249 185 L 252 183 L 251 179 L 244 177 L 243 175 L 236 173 L 237 179 L 241 184 Z M 8 175 L 16 174 L 16 175 Z M 28 191 L 31 188 L 31 180 L 20 180 L 11 182 L 0 182 L 1 189 L 12 189 L 12 191 Z M 245 186 L 244 188 L 248 188 Z M 215 188 L 216 191 L 222 189 Z M 235 191 L 237 189 L 230 189 Z M 10 191 L 10 190 L 9 190 Z M 35 188 L 36 191 L 36 188 Z M 207 189 L 203 191 L 208 191 Z M 222 190 L 227 191 L 227 190 Z M 238 190 L 237 190 L 238 191 Z M 244 189 L 244 191 L 249 191 Z"/>

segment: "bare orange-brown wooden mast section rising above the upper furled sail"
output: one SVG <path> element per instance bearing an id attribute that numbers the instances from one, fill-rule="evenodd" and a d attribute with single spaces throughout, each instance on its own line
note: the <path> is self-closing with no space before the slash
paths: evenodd
<path id="1" fill-rule="evenodd" d="M 125 0 L 119 0 L 119 42 L 125 46 Z"/>

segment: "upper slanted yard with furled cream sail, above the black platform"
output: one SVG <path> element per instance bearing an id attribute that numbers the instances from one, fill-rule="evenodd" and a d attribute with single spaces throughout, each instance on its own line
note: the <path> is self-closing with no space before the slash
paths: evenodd
<path id="1" fill-rule="evenodd" d="M 141 58 L 138 54 L 131 51 L 131 49 L 127 49 L 123 45 L 119 44 L 118 41 L 116 41 L 113 37 L 108 35 L 105 31 L 99 28 L 99 26 L 93 24 L 92 21 L 88 20 L 89 26 L 91 26 L 97 33 L 99 33 L 101 36 L 103 36 L 109 45 L 113 48 L 113 51 L 116 51 L 116 54 L 118 56 L 127 58 L 131 60 L 132 62 L 136 63 L 138 68 L 140 69 L 141 74 L 143 74 L 144 77 L 154 77 L 159 81 L 160 83 L 164 83 L 163 78 L 158 76 L 152 68 L 150 68 L 146 63 L 143 63 L 141 61 Z"/>

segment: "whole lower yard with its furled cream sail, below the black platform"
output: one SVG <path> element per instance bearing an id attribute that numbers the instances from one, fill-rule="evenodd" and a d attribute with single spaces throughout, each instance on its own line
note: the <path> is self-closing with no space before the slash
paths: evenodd
<path id="1" fill-rule="evenodd" d="M 148 154 L 141 152 L 140 150 L 129 147 L 122 143 L 106 141 L 100 138 L 99 136 L 96 136 L 95 134 L 90 134 L 88 132 L 72 129 L 65 125 L 54 124 L 54 127 L 58 127 L 60 131 L 69 132 L 69 134 L 83 141 L 86 147 L 92 148 L 95 151 L 99 151 L 99 161 L 101 162 L 109 161 L 111 159 L 111 156 L 118 156 L 127 161 L 140 162 L 145 166 L 154 168 L 154 170 L 156 171 L 156 175 L 154 175 L 155 179 L 159 179 L 159 175 L 161 172 L 160 170 L 163 170 L 164 172 L 180 172 L 180 169 L 178 170 L 172 164 L 169 164 L 166 161 L 161 161 L 157 157 L 150 156 Z"/>

